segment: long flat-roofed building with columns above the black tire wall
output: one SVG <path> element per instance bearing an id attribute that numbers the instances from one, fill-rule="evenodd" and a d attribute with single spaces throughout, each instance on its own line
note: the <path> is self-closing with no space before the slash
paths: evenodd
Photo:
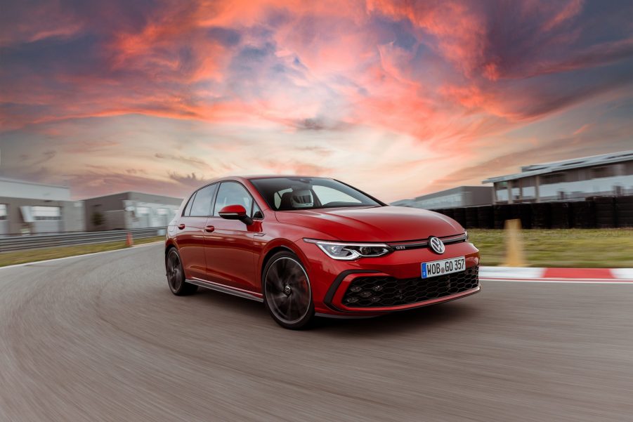
<path id="1" fill-rule="evenodd" d="M 533 164 L 482 183 L 494 185 L 497 204 L 633 194 L 633 150 Z"/>

